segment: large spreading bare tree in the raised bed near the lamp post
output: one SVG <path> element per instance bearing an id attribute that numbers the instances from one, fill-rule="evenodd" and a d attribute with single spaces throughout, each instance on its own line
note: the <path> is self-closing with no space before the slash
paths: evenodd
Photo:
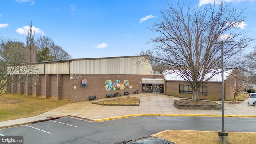
<path id="1" fill-rule="evenodd" d="M 239 29 L 245 20 L 244 10 L 238 12 L 224 2 L 202 7 L 178 3 L 178 9 L 167 5 L 160 10 L 161 20 L 149 28 L 160 34 L 149 41 L 155 48 L 140 55 L 148 55 L 145 58 L 160 64 L 161 69 L 180 75 L 192 87 L 192 101 L 197 101 L 202 84 L 221 72 L 222 47 L 214 42 L 235 40 L 224 43 L 224 68 L 241 66 L 238 56 L 253 41 Z"/>

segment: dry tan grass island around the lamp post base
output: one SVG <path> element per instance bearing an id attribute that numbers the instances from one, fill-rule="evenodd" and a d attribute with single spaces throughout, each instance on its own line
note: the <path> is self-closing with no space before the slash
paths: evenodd
<path id="1" fill-rule="evenodd" d="M 175 144 L 220 144 L 218 132 L 169 130 L 155 136 Z M 228 144 L 251 144 L 255 136 L 252 132 L 228 132 Z"/>

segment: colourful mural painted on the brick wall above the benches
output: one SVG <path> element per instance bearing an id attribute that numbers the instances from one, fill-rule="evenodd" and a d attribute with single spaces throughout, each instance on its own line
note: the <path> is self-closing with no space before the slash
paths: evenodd
<path id="1" fill-rule="evenodd" d="M 111 80 L 106 80 L 105 84 L 105 89 L 107 91 L 109 90 L 124 90 L 129 88 L 129 81 L 124 80 L 124 82 L 121 83 L 121 80 L 116 80 L 116 82 L 112 82 Z"/>

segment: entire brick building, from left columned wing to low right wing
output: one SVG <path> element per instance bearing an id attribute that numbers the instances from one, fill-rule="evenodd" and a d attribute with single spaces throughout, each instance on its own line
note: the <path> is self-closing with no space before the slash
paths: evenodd
<path id="1" fill-rule="evenodd" d="M 49 62 L 35 62 L 36 70 L 11 76 L 14 82 L 7 92 L 35 97 L 67 100 L 70 103 L 98 99 L 106 94 L 125 91 L 133 93 L 156 92 L 191 98 L 190 93 L 181 93 L 179 87 L 187 85 L 183 80 L 170 79 L 170 75 L 153 72 L 150 62 L 138 63 L 144 56 L 109 58 L 83 58 Z M 228 77 L 227 77 L 228 78 Z M 232 89 L 226 79 L 225 96 L 231 97 Z M 221 97 L 221 81 L 204 83 L 201 99 Z M 203 90 L 205 90 L 203 88 Z"/>

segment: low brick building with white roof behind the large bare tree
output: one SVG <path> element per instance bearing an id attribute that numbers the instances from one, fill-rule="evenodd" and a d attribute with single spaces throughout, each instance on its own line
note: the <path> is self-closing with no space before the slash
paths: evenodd
<path id="1" fill-rule="evenodd" d="M 221 70 L 219 70 L 221 72 Z M 209 74 L 212 75 L 212 74 Z M 165 94 L 170 96 L 179 96 L 183 98 L 192 97 L 192 88 L 188 86 L 178 74 L 174 72 L 164 72 L 165 76 Z M 207 75 L 206 75 L 207 77 Z M 234 98 L 236 90 L 237 94 L 243 92 L 242 76 L 237 69 L 224 70 L 224 99 Z M 239 89 L 239 90 L 238 90 Z M 199 93 L 199 99 L 218 100 L 222 97 L 221 87 L 221 73 L 216 74 L 207 82 L 202 84 Z"/>

